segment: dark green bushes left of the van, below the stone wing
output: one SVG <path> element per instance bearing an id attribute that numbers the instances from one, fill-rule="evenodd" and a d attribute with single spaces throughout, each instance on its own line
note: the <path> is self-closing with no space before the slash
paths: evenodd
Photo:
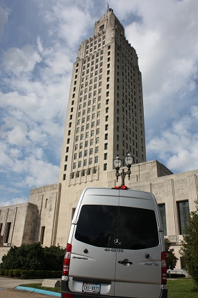
<path id="1" fill-rule="evenodd" d="M 63 268 L 64 255 L 64 249 L 60 249 L 59 246 L 43 248 L 40 242 L 33 244 L 23 244 L 19 247 L 11 247 L 8 251 L 8 254 L 2 257 L 2 263 L 0 267 L 1 269 L 19 269 L 25 271 L 61 271 Z M 14 276 L 14 273 L 12 274 Z M 25 272 L 23 274 L 26 275 L 27 273 Z"/>

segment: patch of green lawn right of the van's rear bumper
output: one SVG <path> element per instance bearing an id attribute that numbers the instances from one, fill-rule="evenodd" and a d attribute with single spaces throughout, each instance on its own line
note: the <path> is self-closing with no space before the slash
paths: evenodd
<path id="1" fill-rule="evenodd" d="M 168 298 L 198 298 L 192 279 L 168 279 Z"/>

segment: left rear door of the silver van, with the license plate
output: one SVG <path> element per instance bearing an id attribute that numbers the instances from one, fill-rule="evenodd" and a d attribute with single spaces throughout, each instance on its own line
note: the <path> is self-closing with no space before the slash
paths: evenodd
<path id="1" fill-rule="evenodd" d="M 81 203 L 82 202 L 82 203 Z M 119 190 L 86 189 L 74 214 L 69 290 L 115 295 Z"/>

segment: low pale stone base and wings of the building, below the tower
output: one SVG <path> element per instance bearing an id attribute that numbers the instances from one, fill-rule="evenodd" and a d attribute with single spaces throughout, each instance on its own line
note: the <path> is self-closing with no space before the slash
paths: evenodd
<path id="1" fill-rule="evenodd" d="M 122 168 L 120 169 L 120 171 Z M 103 177 L 101 177 L 103 175 Z M 131 166 L 131 177 L 125 184 L 135 190 L 151 191 L 159 206 L 165 208 L 165 237 L 167 237 L 179 258 L 176 268 L 181 268 L 179 248 L 183 235 L 179 203 L 188 202 L 189 212 L 195 210 L 197 201 L 198 169 L 173 174 L 157 160 Z M 88 178 L 71 178 L 65 195 L 61 185 L 53 184 L 31 189 L 28 203 L 1 207 L 0 210 L 0 259 L 10 246 L 20 246 L 40 241 L 44 246 L 65 247 L 72 220 L 72 214 L 86 187 L 115 187 L 115 170 L 88 175 Z M 120 185 L 118 178 L 117 185 Z M 60 210 L 60 197 L 65 202 Z M 66 203 L 67 202 L 67 203 Z M 58 221 L 60 226 L 58 226 Z M 10 226 L 9 233 L 8 227 Z M 9 235 L 8 235 L 9 234 Z"/>

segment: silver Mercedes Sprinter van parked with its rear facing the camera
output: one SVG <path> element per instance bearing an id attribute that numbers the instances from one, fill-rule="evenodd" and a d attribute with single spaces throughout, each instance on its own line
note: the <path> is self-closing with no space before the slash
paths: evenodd
<path id="1" fill-rule="evenodd" d="M 72 220 L 62 298 L 166 298 L 163 228 L 145 191 L 88 188 Z"/>

